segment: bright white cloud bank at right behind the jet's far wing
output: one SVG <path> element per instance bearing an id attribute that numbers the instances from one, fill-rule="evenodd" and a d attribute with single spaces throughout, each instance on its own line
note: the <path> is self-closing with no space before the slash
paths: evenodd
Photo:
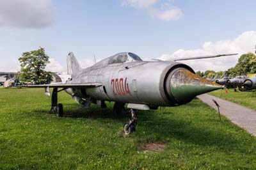
<path id="1" fill-rule="evenodd" d="M 235 66 L 241 54 L 254 52 L 256 45 L 256 31 L 246 31 L 234 40 L 221 40 L 218 42 L 205 42 L 200 49 L 179 49 L 173 54 L 163 54 L 159 59 L 173 60 L 175 58 L 189 58 L 195 56 L 208 56 L 216 54 L 239 53 L 237 56 L 227 56 L 213 59 L 200 59 L 191 61 L 180 61 L 186 63 L 195 70 L 227 70 Z"/>

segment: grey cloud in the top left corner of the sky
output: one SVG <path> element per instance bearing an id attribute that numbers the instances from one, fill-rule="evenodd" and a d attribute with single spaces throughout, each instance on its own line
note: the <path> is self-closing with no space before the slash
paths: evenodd
<path id="1" fill-rule="evenodd" d="M 0 1 L 0 26 L 44 28 L 53 21 L 51 0 Z"/>

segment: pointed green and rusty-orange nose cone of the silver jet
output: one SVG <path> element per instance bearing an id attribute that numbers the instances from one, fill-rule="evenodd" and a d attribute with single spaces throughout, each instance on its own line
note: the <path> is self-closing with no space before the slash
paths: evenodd
<path id="1" fill-rule="evenodd" d="M 181 104 L 190 102 L 197 95 L 220 88 L 220 84 L 204 79 L 185 68 L 177 69 L 170 80 L 170 91 Z"/>

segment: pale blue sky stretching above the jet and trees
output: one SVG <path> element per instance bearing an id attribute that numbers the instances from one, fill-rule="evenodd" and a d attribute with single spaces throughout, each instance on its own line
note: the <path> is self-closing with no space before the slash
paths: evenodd
<path id="1" fill-rule="evenodd" d="M 42 8 L 38 7 L 42 3 L 46 4 L 41 5 Z M 22 52 L 37 49 L 39 46 L 45 48 L 55 64 L 63 67 L 66 65 L 69 51 L 73 51 L 85 66 L 93 59 L 93 54 L 98 59 L 103 59 L 122 51 L 135 52 L 141 58 L 170 58 L 180 49 L 191 57 L 207 52 L 232 52 L 230 49 L 220 49 L 223 45 L 218 45 L 218 42 L 234 42 L 248 31 L 251 31 L 250 34 L 254 38 L 255 32 L 252 31 L 256 31 L 255 6 L 256 1 L 250 0 L 13 0 L 12 3 L 2 0 L 0 71 L 17 70 L 17 58 Z M 28 9 L 34 7 L 36 12 L 33 13 L 32 10 L 29 13 L 31 10 Z M 1 8 L 8 10 L 1 12 Z M 47 13 L 44 13 L 44 8 L 47 8 Z M 17 12 L 17 15 L 12 14 L 13 11 L 19 10 L 21 12 Z M 42 13 L 38 14 L 40 10 Z M 179 13 L 175 14 L 178 10 Z M 163 15 L 166 11 L 170 13 Z M 24 19 L 28 16 L 29 21 Z M 17 20 L 26 22 L 13 24 L 17 23 Z M 250 36 L 246 35 L 247 38 Z M 241 43 L 247 42 L 243 37 L 241 39 Z M 202 46 L 205 42 L 212 42 L 212 49 L 215 48 L 215 51 L 211 49 L 201 53 L 195 52 L 204 49 Z M 256 45 L 256 40 L 253 39 L 245 49 L 238 49 L 239 52 L 247 52 L 249 48 L 253 50 L 253 42 Z M 211 61 L 209 60 L 210 63 Z M 223 62 L 221 64 L 225 65 L 225 62 L 230 61 Z M 200 70 L 196 65 L 194 68 Z M 216 68 L 221 69 L 225 67 Z"/>

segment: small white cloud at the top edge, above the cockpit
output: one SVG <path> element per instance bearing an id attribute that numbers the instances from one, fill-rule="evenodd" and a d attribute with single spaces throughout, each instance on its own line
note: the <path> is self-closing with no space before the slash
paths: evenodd
<path id="1" fill-rule="evenodd" d="M 177 6 L 170 3 L 161 3 L 161 8 L 156 8 L 159 0 L 123 0 L 123 6 L 131 6 L 132 8 L 145 10 L 153 19 L 159 20 L 178 20 L 184 14 Z"/>

